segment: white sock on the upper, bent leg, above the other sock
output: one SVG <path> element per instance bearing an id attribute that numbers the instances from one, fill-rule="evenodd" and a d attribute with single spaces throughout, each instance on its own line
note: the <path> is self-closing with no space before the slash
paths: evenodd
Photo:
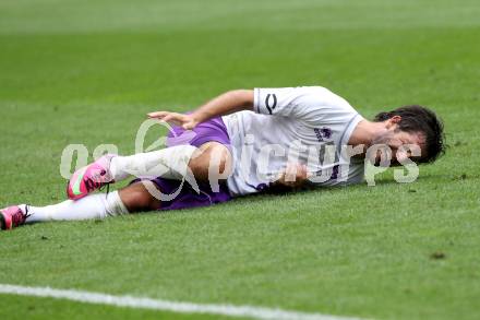
<path id="1" fill-rule="evenodd" d="M 190 171 L 189 162 L 195 150 L 193 145 L 177 145 L 130 156 L 115 156 L 110 162 L 110 174 L 116 181 L 130 176 L 181 180 Z"/>

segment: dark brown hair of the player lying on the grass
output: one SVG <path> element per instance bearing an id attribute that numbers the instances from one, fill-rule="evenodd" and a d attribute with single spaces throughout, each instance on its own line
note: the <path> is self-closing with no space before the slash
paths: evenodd
<path id="1" fill-rule="evenodd" d="M 400 116 L 398 128 L 407 132 L 421 132 L 425 138 L 427 155 L 419 163 L 433 163 L 445 153 L 445 135 L 442 120 L 432 110 L 422 106 L 405 106 L 388 112 L 380 112 L 374 121 L 385 121 Z"/>

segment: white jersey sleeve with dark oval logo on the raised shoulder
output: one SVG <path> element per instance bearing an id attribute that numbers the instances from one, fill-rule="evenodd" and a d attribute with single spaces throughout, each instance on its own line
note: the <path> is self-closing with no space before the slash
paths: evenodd
<path id="1" fill-rule="evenodd" d="M 254 88 L 253 110 L 262 115 L 284 116 L 317 125 L 332 116 L 350 112 L 339 96 L 321 86 Z"/>

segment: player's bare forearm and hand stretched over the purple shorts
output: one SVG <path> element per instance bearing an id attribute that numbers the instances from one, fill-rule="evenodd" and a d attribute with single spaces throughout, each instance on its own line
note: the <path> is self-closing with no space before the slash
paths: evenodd
<path id="1" fill-rule="evenodd" d="M 156 111 L 148 114 L 148 118 L 172 122 L 185 130 L 195 128 L 200 122 L 241 110 L 253 110 L 253 90 L 233 90 L 226 92 L 207 102 L 189 115 Z"/>

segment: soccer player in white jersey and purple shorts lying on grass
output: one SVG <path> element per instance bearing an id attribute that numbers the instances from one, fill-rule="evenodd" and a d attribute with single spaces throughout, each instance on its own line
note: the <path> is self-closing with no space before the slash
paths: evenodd
<path id="1" fill-rule="evenodd" d="M 73 174 L 70 200 L 1 210 L 2 229 L 211 205 L 276 188 L 357 183 L 373 145 L 389 146 L 392 165 L 432 163 L 444 152 L 443 125 L 431 110 L 407 106 L 368 121 L 320 86 L 230 91 L 191 114 L 148 117 L 176 125 L 166 149 L 105 155 Z M 376 163 L 383 155 L 372 154 Z M 136 179 L 123 189 L 92 194 L 132 175 Z"/>

